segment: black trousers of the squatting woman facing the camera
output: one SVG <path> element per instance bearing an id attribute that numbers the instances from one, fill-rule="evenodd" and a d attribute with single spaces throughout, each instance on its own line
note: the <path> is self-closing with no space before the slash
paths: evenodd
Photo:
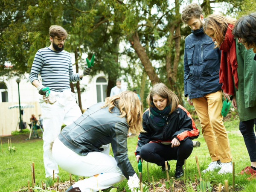
<path id="1" fill-rule="evenodd" d="M 147 143 L 140 149 L 140 157 L 150 163 L 155 163 L 158 166 L 164 165 L 167 160 L 177 160 L 176 166 L 183 166 L 193 151 L 193 142 L 186 139 L 179 146 L 163 145 L 161 143 Z"/>

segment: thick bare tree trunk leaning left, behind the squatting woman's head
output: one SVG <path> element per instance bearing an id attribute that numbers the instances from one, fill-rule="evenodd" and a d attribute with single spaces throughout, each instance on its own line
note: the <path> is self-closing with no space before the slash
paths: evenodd
<path id="1" fill-rule="evenodd" d="M 156 73 L 154 67 L 152 66 L 152 63 L 149 60 L 148 55 L 145 52 L 145 48 L 142 47 L 142 45 L 140 43 L 138 33 L 137 32 L 134 33 L 132 35 L 132 39 L 129 39 L 129 41 L 130 41 L 132 47 L 134 48 L 134 50 L 137 52 L 137 55 L 140 58 L 140 61 L 143 64 L 145 72 L 148 74 L 148 77 L 149 77 L 150 81 L 152 82 L 152 84 L 160 82 L 160 80 L 157 76 L 157 73 Z"/>

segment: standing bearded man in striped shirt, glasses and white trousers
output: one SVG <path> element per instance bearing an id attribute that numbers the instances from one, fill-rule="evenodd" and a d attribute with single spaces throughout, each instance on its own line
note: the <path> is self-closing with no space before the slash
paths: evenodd
<path id="1" fill-rule="evenodd" d="M 70 82 L 76 82 L 89 75 L 91 68 L 85 66 L 81 73 L 73 73 L 70 53 L 63 50 L 67 41 L 67 32 L 61 26 L 49 28 L 51 45 L 39 49 L 35 54 L 30 82 L 37 87 L 44 126 L 44 168 L 46 177 L 52 177 L 53 170 L 58 173 L 58 165 L 52 158 L 52 144 L 61 132 L 61 125 L 70 125 L 81 116 L 81 110 L 76 103 L 76 94 L 71 92 Z M 38 74 L 42 77 L 42 84 Z M 50 97 L 56 99 L 54 104 L 46 103 L 42 89 L 49 87 Z M 57 175 L 55 175 L 57 176 Z"/>

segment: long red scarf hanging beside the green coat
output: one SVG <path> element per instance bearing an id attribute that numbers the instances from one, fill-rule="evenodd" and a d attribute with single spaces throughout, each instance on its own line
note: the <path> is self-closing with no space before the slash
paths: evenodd
<path id="1" fill-rule="evenodd" d="M 233 77 L 235 86 L 238 87 L 236 40 L 230 28 L 233 29 L 233 25 L 228 24 L 225 39 L 220 46 L 221 67 L 219 77 L 220 83 L 223 84 L 221 87 L 223 91 L 229 95 L 234 95 Z"/>

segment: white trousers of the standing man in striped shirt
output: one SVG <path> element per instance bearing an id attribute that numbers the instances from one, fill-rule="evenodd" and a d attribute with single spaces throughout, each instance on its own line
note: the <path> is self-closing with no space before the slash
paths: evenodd
<path id="1" fill-rule="evenodd" d="M 76 95 L 70 90 L 65 90 L 61 93 L 51 91 L 50 94 L 55 94 L 56 102 L 51 105 L 40 97 L 40 107 L 43 116 L 44 126 L 44 169 L 45 177 L 52 176 L 52 172 L 58 173 L 58 164 L 52 158 L 52 145 L 54 140 L 61 132 L 61 125 L 70 125 L 81 116 L 81 110 L 76 103 Z"/>

